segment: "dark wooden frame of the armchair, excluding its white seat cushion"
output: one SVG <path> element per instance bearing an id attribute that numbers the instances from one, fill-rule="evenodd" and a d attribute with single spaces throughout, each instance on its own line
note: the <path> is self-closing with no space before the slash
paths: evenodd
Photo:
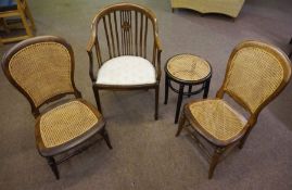
<path id="1" fill-rule="evenodd" d="M 143 15 L 147 16 L 147 18 L 151 20 L 152 24 L 153 24 L 153 38 L 154 38 L 154 45 L 153 45 L 153 60 L 152 60 L 152 64 L 155 67 L 156 71 L 156 83 L 154 84 L 147 84 L 147 85 L 102 85 L 102 84 L 96 84 L 97 81 L 97 76 L 94 73 L 94 64 L 93 64 L 93 53 L 92 53 L 92 48 L 96 48 L 96 52 L 97 52 L 97 61 L 98 61 L 98 68 L 100 68 L 102 66 L 102 64 L 105 62 L 102 61 L 101 58 L 101 49 L 100 49 L 100 43 L 99 43 L 99 39 L 98 39 L 98 25 L 99 22 L 103 22 L 104 26 L 106 26 L 106 17 L 109 18 L 109 14 L 111 13 L 115 13 L 116 11 L 135 11 L 135 12 L 140 12 L 143 13 Z M 126 13 L 125 13 L 126 14 Z M 144 17 L 145 17 L 144 16 Z M 127 15 L 125 15 L 125 20 L 131 20 L 129 17 L 127 17 Z M 111 20 L 111 18 L 110 18 Z M 110 23 L 111 24 L 111 23 Z M 137 23 L 136 23 L 137 24 Z M 117 26 L 116 20 L 115 20 L 115 26 Z M 131 27 L 131 26 L 130 26 Z M 117 51 L 115 49 L 115 45 L 113 42 L 113 40 L 115 40 L 114 38 L 119 38 L 118 35 L 114 36 L 114 30 L 115 29 L 115 34 L 117 34 L 117 27 L 112 27 L 111 26 L 106 26 L 105 29 L 105 35 L 106 35 L 106 40 L 107 40 L 107 49 L 109 49 L 109 54 L 110 54 L 110 59 L 115 58 L 115 56 L 119 56 L 119 55 L 132 55 L 130 54 L 130 48 L 131 45 L 128 41 L 129 39 L 125 38 L 126 42 L 120 42 L 123 46 L 123 50 L 119 50 L 119 43 L 117 42 Z M 124 31 L 126 34 L 126 31 Z M 143 33 L 143 26 L 140 26 L 140 35 Z M 156 24 L 156 16 L 154 15 L 154 13 L 149 10 L 145 9 L 141 5 L 138 4 L 132 4 L 132 3 L 118 3 L 118 4 L 113 4 L 113 5 L 109 5 L 102 10 L 100 10 L 97 15 L 93 18 L 93 22 L 91 24 L 91 37 L 89 39 L 89 42 L 87 45 L 87 53 L 89 56 L 89 75 L 92 81 L 92 89 L 94 92 L 94 98 L 97 101 L 97 105 L 100 112 L 102 112 L 102 107 L 101 107 L 101 103 L 100 103 L 100 94 L 99 91 L 100 90 L 114 90 L 114 91 L 126 91 L 126 90 L 141 90 L 141 89 L 154 89 L 155 90 L 155 114 L 154 114 L 154 118 L 157 119 L 158 118 L 158 94 L 160 94 L 160 80 L 161 80 L 161 42 L 158 39 L 158 28 L 157 28 L 157 24 Z M 144 33 L 143 33 L 144 34 Z M 147 33 L 145 33 L 147 35 Z M 122 38 L 122 37 L 120 37 Z M 110 39 L 112 40 L 110 42 Z M 140 42 L 142 42 L 142 39 L 139 39 Z M 129 48 L 129 49 L 128 49 Z M 142 43 L 140 43 L 140 48 L 142 49 Z M 144 56 L 145 58 L 145 43 L 144 43 L 144 51 L 142 52 L 142 50 L 140 49 L 140 56 Z M 137 52 L 138 50 L 136 50 Z M 144 55 L 142 55 L 144 53 Z M 116 55 L 117 54 L 117 55 Z M 136 54 L 137 55 L 137 54 Z"/>

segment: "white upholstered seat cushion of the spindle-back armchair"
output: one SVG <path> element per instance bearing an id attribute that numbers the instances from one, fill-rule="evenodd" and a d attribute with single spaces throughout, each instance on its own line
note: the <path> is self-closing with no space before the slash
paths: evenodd
<path id="1" fill-rule="evenodd" d="M 155 67 L 140 56 L 123 55 L 103 63 L 98 72 L 99 85 L 147 85 L 155 84 Z"/>

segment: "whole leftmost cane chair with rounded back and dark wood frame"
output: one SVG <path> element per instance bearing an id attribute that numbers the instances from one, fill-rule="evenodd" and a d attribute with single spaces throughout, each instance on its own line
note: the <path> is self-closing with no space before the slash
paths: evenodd
<path id="1" fill-rule="evenodd" d="M 31 105 L 37 149 L 48 160 L 56 179 L 56 165 L 92 144 L 89 142 L 96 134 L 112 149 L 102 115 L 81 99 L 75 87 L 74 54 L 64 39 L 42 36 L 22 41 L 3 56 L 2 68 Z M 75 98 L 64 100 L 69 94 Z M 48 103 L 51 104 L 43 107 Z M 66 156 L 62 154 L 65 152 Z M 56 155 L 61 157 L 59 161 L 54 160 Z"/>

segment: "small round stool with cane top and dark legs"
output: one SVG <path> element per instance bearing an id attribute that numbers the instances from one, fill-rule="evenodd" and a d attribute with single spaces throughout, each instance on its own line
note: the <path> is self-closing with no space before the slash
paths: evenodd
<path id="1" fill-rule="evenodd" d="M 191 97 L 204 91 L 203 99 L 207 98 L 210 81 L 212 77 L 212 67 L 210 63 L 192 54 L 178 54 L 170 58 L 165 67 L 165 99 L 168 101 L 168 88 L 178 93 L 175 124 L 178 122 L 181 101 L 183 96 Z M 173 87 L 172 81 L 179 85 L 179 89 Z M 193 86 L 202 85 L 199 89 L 192 90 Z M 183 91 L 185 86 L 189 89 Z"/>

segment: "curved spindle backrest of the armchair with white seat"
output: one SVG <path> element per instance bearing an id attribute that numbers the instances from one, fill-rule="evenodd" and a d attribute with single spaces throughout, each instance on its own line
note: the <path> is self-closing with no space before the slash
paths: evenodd
<path id="1" fill-rule="evenodd" d="M 151 10 L 131 3 L 113 4 L 97 14 L 91 28 L 99 65 L 119 55 L 142 56 L 155 63 L 157 25 Z"/>

